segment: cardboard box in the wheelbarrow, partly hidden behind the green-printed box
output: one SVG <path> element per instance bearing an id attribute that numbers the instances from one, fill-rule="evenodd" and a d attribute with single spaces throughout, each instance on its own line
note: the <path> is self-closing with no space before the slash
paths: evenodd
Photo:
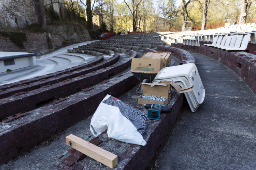
<path id="1" fill-rule="evenodd" d="M 161 59 L 166 62 L 166 67 L 169 67 L 171 65 L 171 54 L 170 52 L 148 52 L 144 53 L 140 58 Z"/>

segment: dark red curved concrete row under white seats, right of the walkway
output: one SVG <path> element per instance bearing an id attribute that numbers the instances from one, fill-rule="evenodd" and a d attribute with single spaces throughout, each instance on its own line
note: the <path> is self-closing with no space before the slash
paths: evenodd
<path id="1" fill-rule="evenodd" d="M 226 65 L 234 72 L 236 72 L 239 77 L 241 77 L 256 93 L 256 55 L 247 52 L 229 52 L 226 50 L 200 46 L 186 46 L 183 44 L 173 44 L 172 47 L 182 48 L 185 50 L 197 52 L 214 58 L 220 63 Z"/>

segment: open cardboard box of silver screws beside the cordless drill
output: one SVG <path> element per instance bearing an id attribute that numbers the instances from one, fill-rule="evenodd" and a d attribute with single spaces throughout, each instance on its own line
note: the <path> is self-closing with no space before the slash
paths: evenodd
<path id="1" fill-rule="evenodd" d="M 143 94 L 137 98 L 138 104 L 162 104 L 167 105 L 170 97 L 169 97 L 169 87 L 167 84 L 151 84 L 151 83 L 142 83 L 142 90 Z M 165 97 L 165 101 L 158 101 L 158 100 L 148 100 L 142 99 L 142 96 L 161 96 Z"/>

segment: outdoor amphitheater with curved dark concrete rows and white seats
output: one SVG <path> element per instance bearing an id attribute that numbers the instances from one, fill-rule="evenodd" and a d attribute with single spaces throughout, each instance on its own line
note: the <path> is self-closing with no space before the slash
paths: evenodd
<path id="1" fill-rule="evenodd" d="M 203 102 L 192 112 L 193 101 L 172 89 L 172 111 L 148 119 L 145 146 L 109 138 L 106 131 L 88 141 L 117 155 L 114 169 L 255 169 L 255 36 L 255 23 L 108 33 L 36 57 L 33 68 L 1 74 L 0 169 L 110 169 L 71 149 L 65 138 L 92 135 L 90 121 L 106 95 L 147 113 L 136 105 L 140 82 L 130 71 L 132 58 L 147 52 L 170 52 L 173 68 L 195 64 Z"/>

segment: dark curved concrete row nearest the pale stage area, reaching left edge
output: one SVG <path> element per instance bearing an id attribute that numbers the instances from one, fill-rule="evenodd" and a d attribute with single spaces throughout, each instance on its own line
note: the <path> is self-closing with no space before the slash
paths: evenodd
<path id="1" fill-rule="evenodd" d="M 23 86 L 24 84 L 29 84 L 29 83 L 37 82 L 37 81 L 40 81 L 40 80 L 49 79 L 49 78 L 52 78 L 52 77 L 55 77 L 55 76 L 58 76 L 58 75 L 66 74 L 68 72 L 77 71 L 77 70 L 80 70 L 80 69 L 84 69 L 86 67 L 96 65 L 96 64 L 98 64 L 102 61 L 103 61 L 103 55 L 100 55 L 99 57 L 97 57 L 95 60 L 93 60 L 91 62 L 81 64 L 81 65 L 78 65 L 78 66 L 74 66 L 74 67 L 71 67 L 71 68 L 67 68 L 67 69 L 62 70 L 62 71 L 49 73 L 49 74 L 46 74 L 46 75 L 34 77 L 34 78 L 31 78 L 31 79 L 27 79 L 27 80 L 22 80 L 22 81 L 11 83 L 11 84 L 1 85 L 0 90 L 5 90 L 5 89 L 8 89 L 8 88 L 13 88 L 13 87 L 18 87 L 18 86 Z"/>

